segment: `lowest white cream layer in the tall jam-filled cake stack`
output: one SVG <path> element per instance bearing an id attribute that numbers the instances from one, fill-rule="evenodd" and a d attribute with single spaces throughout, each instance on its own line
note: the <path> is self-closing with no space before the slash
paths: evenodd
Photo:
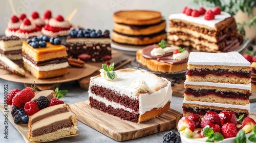
<path id="1" fill-rule="evenodd" d="M 187 104 L 199 104 L 199 105 L 206 105 L 206 106 L 216 106 L 216 107 L 225 107 L 225 108 L 238 108 L 238 109 L 245 109 L 250 111 L 250 103 L 246 105 L 233 105 L 233 104 L 222 104 L 222 103 L 210 103 L 210 102 L 199 102 L 199 101 L 186 101 L 183 100 L 183 103 Z"/>

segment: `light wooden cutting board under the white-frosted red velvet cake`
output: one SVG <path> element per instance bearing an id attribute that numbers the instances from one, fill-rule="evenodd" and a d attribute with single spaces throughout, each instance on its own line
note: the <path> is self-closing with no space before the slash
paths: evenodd
<path id="1" fill-rule="evenodd" d="M 91 108 L 88 100 L 72 104 L 70 107 L 80 122 L 116 141 L 135 139 L 176 128 L 182 116 L 180 112 L 169 109 L 161 116 L 137 124 L 121 120 L 119 117 Z"/>

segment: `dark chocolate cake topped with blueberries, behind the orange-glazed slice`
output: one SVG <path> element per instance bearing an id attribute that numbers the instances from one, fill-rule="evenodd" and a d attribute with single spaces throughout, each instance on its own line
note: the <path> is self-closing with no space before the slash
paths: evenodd
<path id="1" fill-rule="evenodd" d="M 66 41 L 69 58 L 85 62 L 104 62 L 111 59 L 110 32 L 105 30 L 76 29 Z"/>

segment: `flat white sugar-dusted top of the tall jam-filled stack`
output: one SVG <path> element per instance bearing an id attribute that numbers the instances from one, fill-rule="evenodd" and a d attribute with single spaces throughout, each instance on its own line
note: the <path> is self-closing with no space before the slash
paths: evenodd
<path id="1" fill-rule="evenodd" d="M 228 52 L 228 53 L 191 52 L 189 54 L 187 64 L 250 66 L 250 62 L 248 62 L 238 52 Z"/>

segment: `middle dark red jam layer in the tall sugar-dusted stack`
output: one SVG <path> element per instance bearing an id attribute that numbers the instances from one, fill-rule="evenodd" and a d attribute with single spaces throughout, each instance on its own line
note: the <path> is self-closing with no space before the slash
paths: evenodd
<path id="1" fill-rule="evenodd" d="M 221 98 L 232 98 L 232 99 L 241 99 L 247 100 L 251 96 L 251 93 L 239 93 L 232 91 L 217 91 L 216 89 L 201 89 L 194 90 L 191 88 L 185 88 L 184 93 L 187 95 L 193 95 L 194 97 L 203 97 L 209 94 L 214 94 Z"/>

